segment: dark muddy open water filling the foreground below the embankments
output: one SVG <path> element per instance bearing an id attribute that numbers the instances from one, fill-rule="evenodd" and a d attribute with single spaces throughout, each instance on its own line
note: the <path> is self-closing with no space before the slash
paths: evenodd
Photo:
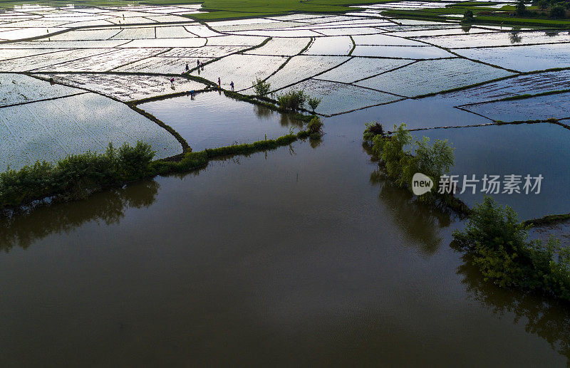
<path id="1" fill-rule="evenodd" d="M 0 366 L 564 366 L 568 308 L 485 283 L 363 151 L 369 120 L 483 120 L 426 101 L 4 221 Z"/>

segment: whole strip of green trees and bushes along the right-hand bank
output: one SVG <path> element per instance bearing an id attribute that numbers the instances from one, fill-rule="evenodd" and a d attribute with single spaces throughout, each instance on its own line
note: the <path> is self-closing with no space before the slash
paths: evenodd
<path id="1" fill-rule="evenodd" d="M 395 127 L 395 132 L 388 135 L 382 125 L 368 123 L 364 140 L 388 177 L 405 189 L 410 190 L 414 173 L 422 172 L 437 183 L 434 179 L 453 164 L 452 147 L 447 141 L 428 144 L 424 137 L 414 142 L 405 125 Z M 410 146 L 413 149 L 405 148 Z M 434 191 L 418 196 L 419 201 L 433 199 Z M 456 204 L 465 206 L 459 200 Z M 531 226 L 567 221 L 570 214 L 520 223 L 512 208 L 499 206 L 488 196 L 473 209 L 465 209 L 467 226 L 463 231 L 453 231 L 452 246 L 467 251 L 466 259 L 481 271 L 484 280 L 501 288 L 519 288 L 570 301 L 570 248 L 562 247 L 554 237 L 546 242 L 531 241 L 528 234 Z"/>

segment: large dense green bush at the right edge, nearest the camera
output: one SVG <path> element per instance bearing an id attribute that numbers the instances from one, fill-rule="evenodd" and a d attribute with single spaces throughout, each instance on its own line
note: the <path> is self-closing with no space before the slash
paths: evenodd
<path id="1" fill-rule="evenodd" d="M 476 204 L 464 231 L 454 231 L 454 246 L 470 253 L 485 280 L 502 288 L 534 290 L 570 301 L 570 248 L 556 238 L 529 241 L 529 226 L 509 206 L 490 197 Z"/>

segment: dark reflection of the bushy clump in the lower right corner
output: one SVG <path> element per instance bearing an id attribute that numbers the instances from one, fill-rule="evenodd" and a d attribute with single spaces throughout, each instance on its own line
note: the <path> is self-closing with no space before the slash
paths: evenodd
<path id="1" fill-rule="evenodd" d="M 525 330 L 546 340 L 552 349 L 566 357 L 570 365 L 570 310 L 568 305 L 543 295 L 502 289 L 482 278 L 479 269 L 470 263 L 469 254 L 457 268 L 467 294 L 500 317 L 514 315 L 513 322 L 527 320 Z"/>

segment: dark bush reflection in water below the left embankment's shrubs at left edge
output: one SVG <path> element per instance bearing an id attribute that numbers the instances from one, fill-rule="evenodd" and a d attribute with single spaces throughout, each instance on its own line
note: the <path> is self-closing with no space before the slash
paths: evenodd
<path id="1" fill-rule="evenodd" d="M 0 219 L 0 250 L 28 248 L 51 233 L 69 233 L 88 221 L 118 224 L 128 208 L 154 203 L 160 184 L 154 180 L 95 194 L 85 201 L 53 204 Z"/>

